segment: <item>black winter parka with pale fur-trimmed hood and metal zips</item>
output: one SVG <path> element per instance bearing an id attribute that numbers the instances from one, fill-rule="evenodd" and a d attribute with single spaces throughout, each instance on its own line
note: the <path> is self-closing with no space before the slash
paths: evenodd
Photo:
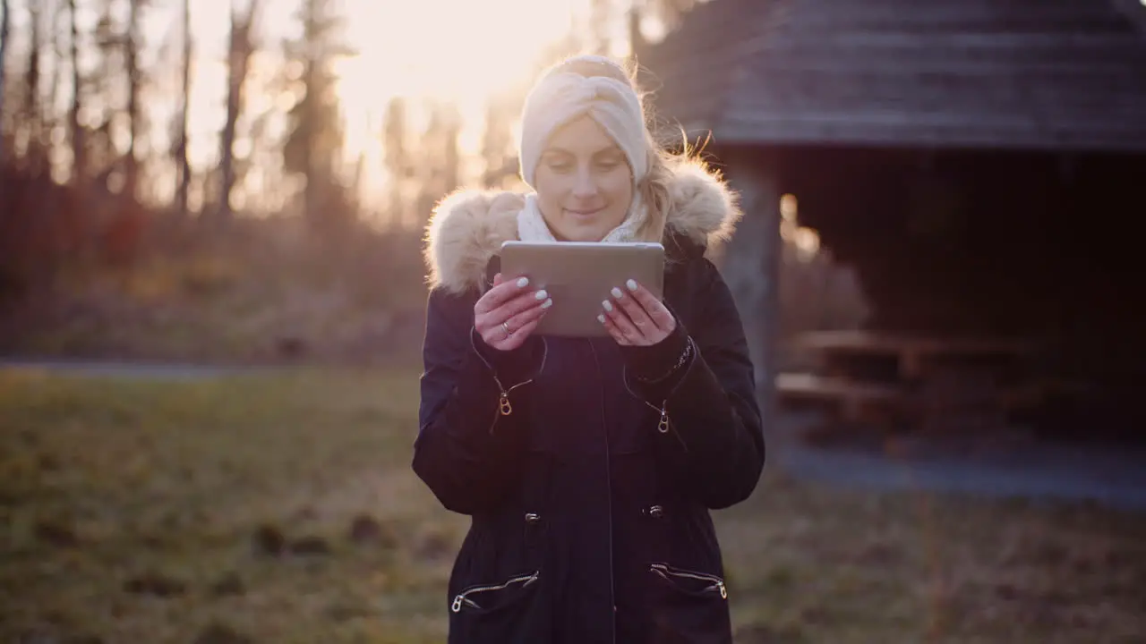
<path id="1" fill-rule="evenodd" d="M 676 170 L 670 198 L 677 329 L 653 347 L 487 346 L 473 305 L 520 195 L 463 193 L 434 213 L 413 466 L 471 517 L 444 606 L 449 644 L 732 641 L 709 510 L 753 493 L 764 440 L 740 317 L 705 249 L 739 211 L 698 165 Z"/>

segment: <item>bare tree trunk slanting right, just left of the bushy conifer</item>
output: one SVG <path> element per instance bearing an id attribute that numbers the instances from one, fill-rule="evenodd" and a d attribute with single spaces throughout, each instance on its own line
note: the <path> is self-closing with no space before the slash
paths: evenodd
<path id="1" fill-rule="evenodd" d="M 226 227 L 233 217 L 230 193 L 235 188 L 235 133 L 238 116 L 243 109 L 243 86 L 250 68 L 253 44 L 251 28 L 259 10 L 259 0 L 250 0 L 246 13 L 240 14 L 234 1 L 230 7 L 230 46 L 228 47 L 227 71 L 227 123 L 220 139 L 219 206 L 215 225 Z"/>

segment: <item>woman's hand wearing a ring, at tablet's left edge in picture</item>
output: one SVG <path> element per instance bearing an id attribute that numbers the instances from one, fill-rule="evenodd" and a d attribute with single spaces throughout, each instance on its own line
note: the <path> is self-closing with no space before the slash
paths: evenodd
<path id="1" fill-rule="evenodd" d="M 494 275 L 493 288 L 473 305 L 473 328 L 487 345 L 512 351 L 537 328 L 554 300 L 528 286 L 526 277 L 507 282 L 501 273 Z"/>

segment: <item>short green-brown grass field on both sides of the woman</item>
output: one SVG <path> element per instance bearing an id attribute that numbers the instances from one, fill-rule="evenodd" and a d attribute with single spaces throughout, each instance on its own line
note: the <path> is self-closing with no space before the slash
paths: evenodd
<path id="1" fill-rule="evenodd" d="M 466 519 L 411 372 L 0 372 L 0 642 L 429 643 Z M 1146 637 L 1146 516 L 811 486 L 716 515 L 737 641 Z"/>

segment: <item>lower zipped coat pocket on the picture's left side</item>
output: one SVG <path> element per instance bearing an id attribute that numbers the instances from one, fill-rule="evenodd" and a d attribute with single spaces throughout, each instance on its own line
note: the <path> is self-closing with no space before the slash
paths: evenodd
<path id="1" fill-rule="evenodd" d="M 501 582 L 470 586 L 454 596 L 449 642 L 464 644 L 528 642 L 534 630 L 533 599 L 540 574 L 521 574 Z"/>

